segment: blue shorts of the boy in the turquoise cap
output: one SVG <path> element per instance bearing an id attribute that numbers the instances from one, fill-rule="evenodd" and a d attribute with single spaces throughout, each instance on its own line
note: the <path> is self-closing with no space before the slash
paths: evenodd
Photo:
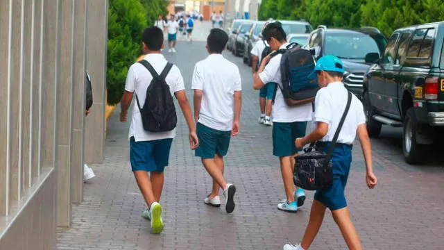
<path id="1" fill-rule="evenodd" d="M 330 146 L 330 144 L 327 144 Z M 323 148 L 327 153 L 328 146 Z M 327 190 L 317 190 L 314 199 L 324 204 L 330 210 L 338 210 L 347 206 L 344 189 L 347 185 L 348 173 L 352 163 L 352 146 L 341 144 L 336 146 L 332 156 L 333 185 Z"/>

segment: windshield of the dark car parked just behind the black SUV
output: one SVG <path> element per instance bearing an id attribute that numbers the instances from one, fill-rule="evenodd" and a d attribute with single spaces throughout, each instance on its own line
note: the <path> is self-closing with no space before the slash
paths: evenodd
<path id="1" fill-rule="evenodd" d="M 324 55 L 357 60 L 364 60 L 368 53 L 380 55 L 377 42 L 364 33 L 327 33 L 324 42 Z"/>

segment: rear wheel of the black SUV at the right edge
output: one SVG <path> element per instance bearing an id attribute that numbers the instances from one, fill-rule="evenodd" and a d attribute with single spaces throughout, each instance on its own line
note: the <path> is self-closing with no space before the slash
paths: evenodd
<path id="1" fill-rule="evenodd" d="M 415 110 L 409 108 L 404 118 L 404 127 L 402 130 L 402 151 L 406 163 L 411 165 L 422 163 L 423 145 L 416 142 L 416 132 L 418 131 L 418 120 L 416 119 Z"/>

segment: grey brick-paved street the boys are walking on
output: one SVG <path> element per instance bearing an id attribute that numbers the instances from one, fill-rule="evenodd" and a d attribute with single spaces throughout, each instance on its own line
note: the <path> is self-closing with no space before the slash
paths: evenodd
<path id="1" fill-rule="evenodd" d="M 164 49 L 167 60 L 182 72 L 191 106 L 194 65 L 207 56 L 205 42 L 200 42 L 205 32 L 198 33 L 194 42 L 178 42 L 178 53 Z M 149 222 L 140 216 L 146 205 L 129 163 L 129 123 L 119 122 L 117 108 L 108 121 L 105 161 L 89 166 L 96 178 L 85 184 L 85 201 L 73 205 L 72 227 L 58 233 L 58 249 L 282 249 L 285 243 L 300 241 L 314 192 L 307 192 L 298 213 L 278 210 L 284 199 L 279 161 L 272 155 L 271 127 L 257 122 L 258 92 L 252 88 L 251 69 L 227 51 L 224 56 L 238 65 L 243 82 L 241 131 L 225 158 L 225 176 L 237 185 L 234 213 L 227 215 L 203 203 L 212 180 L 189 149 L 188 128 L 178 111 L 178 135 L 160 201 L 165 229 L 160 235 L 151 234 Z M 425 165 L 411 166 L 404 163 L 400 128 L 384 126 L 380 138 L 372 142 L 377 187 L 366 186 L 364 159 L 356 141 L 345 190 L 364 249 L 442 249 L 443 147 L 430 149 Z M 346 248 L 327 212 L 310 249 Z"/>

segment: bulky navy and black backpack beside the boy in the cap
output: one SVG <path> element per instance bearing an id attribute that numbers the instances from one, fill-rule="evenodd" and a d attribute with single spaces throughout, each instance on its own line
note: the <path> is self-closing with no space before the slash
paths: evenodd
<path id="1" fill-rule="evenodd" d="M 311 51 L 302 49 L 299 44 L 291 43 L 282 53 L 280 72 L 282 90 L 288 106 L 298 106 L 314 100 L 319 90 L 318 80 L 314 74 L 316 65 Z"/>

